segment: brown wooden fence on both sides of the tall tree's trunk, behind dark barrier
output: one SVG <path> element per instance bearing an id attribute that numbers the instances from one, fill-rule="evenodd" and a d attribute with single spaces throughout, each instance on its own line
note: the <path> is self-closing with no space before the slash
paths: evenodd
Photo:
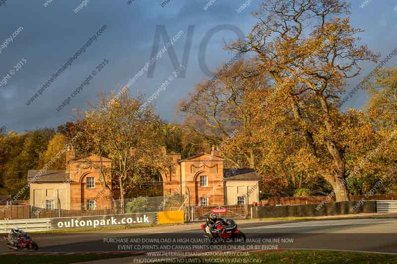
<path id="1" fill-rule="evenodd" d="M 397 200 L 397 195 L 389 194 L 375 194 L 375 195 L 349 195 L 350 201 L 359 201 L 362 198 L 365 200 Z M 335 196 L 307 196 L 307 197 L 271 197 L 267 200 L 261 200 L 261 205 L 265 206 L 289 206 L 289 205 L 307 205 L 320 204 L 323 201 L 326 203 L 335 202 Z"/>

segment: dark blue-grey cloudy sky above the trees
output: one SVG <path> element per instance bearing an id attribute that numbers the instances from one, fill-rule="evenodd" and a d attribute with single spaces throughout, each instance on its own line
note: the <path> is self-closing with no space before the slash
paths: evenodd
<path id="1" fill-rule="evenodd" d="M 249 4 L 238 12 L 245 2 Z M 132 95 L 143 94 L 147 100 L 172 76 L 173 60 L 186 62 L 186 72 L 152 103 L 163 120 L 177 121 L 178 102 L 233 57 L 223 49 L 223 41 L 250 32 L 256 22 L 252 12 L 261 2 L 0 0 L 0 127 L 23 132 L 73 121 L 73 109 L 87 110 L 97 92 L 119 91 L 134 76 L 138 78 L 130 87 Z M 397 47 L 397 1 L 350 3 L 353 27 L 365 30 L 360 34 L 362 43 L 382 57 L 391 53 Z M 136 75 L 150 61 L 154 48 L 161 50 L 166 44 L 164 32 L 170 39 L 178 34 L 167 50 L 175 52 L 173 60 L 164 53 L 152 64 L 150 74 Z M 396 62 L 397 56 L 385 66 Z M 372 62 L 360 65 L 362 74 L 349 81 L 347 91 L 376 67 Z M 365 92 L 359 91 L 344 107 L 362 107 L 366 100 Z"/>

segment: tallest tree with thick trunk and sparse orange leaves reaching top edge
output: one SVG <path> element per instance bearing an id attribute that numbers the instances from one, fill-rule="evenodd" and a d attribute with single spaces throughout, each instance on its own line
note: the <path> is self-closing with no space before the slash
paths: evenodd
<path id="1" fill-rule="evenodd" d="M 346 79 L 360 74 L 358 63 L 377 58 L 358 44 L 362 30 L 350 26 L 348 14 L 349 5 L 340 0 L 268 0 L 254 13 L 259 22 L 248 39 L 227 46 L 252 53 L 272 78 L 274 95 L 267 102 L 288 103 L 296 132 L 319 158 L 336 201 L 349 199 L 339 97 Z"/>

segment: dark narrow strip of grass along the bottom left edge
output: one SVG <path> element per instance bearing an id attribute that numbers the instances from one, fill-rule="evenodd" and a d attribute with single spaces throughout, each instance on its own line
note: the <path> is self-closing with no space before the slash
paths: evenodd
<path id="1" fill-rule="evenodd" d="M 74 254 L 74 255 L 1 255 L 1 263 L 13 264 L 66 264 L 128 257 L 131 254 Z"/>

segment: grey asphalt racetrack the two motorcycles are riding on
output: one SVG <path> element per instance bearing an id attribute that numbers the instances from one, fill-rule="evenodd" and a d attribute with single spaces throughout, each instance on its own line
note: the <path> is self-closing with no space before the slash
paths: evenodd
<path id="1" fill-rule="evenodd" d="M 37 253 L 197 252 L 327 249 L 397 254 L 397 218 L 244 222 L 247 243 L 210 246 L 200 224 L 76 233 L 32 234 Z M 0 243 L 0 252 L 11 252 Z M 33 253 L 32 251 L 25 251 Z M 111 263 L 109 260 L 107 263 Z M 131 263 L 131 262 L 130 262 Z"/>

